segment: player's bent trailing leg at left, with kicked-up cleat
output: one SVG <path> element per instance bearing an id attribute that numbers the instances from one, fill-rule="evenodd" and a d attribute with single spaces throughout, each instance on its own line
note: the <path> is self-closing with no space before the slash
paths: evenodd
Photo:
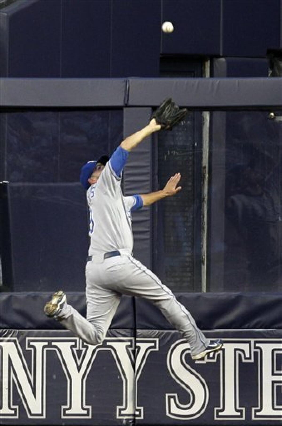
<path id="1" fill-rule="evenodd" d="M 94 286 L 86 280 L 87 319 L 66 302 L 63 291 L 54 293 L 44 308 L 48 317 L 54 317 L 63 327 L 72 331 L 89 345 L 102 343 L 121 295 L 109 289 Z"/>

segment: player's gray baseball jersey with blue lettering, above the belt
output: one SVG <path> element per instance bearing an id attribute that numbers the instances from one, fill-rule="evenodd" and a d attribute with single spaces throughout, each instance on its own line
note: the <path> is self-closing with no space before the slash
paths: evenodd
<path id="1" fill-rule="evenodd" d="M 116 176 L 110 161 L 97 183 L 87 190 L 89 206 L 89 256 L 118 249 L 132 253 L 133 235 L 130 210 L 135 198 L 124 197 L 121 177 Z"/>

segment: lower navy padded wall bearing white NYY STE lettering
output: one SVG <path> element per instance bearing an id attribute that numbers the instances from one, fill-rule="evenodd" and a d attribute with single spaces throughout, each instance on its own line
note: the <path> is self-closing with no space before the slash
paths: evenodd
<path id="1" fill-rule="evenodd" d="M 281 424 L 280 294 L 177 294 L 224 340 L 197 362 L 147 302 L 123 296 L 103 344 L 89 346 L 43 316 L 48 297 L 1 295 L 1 424 Z M 85 314 L 83 294 L 67 297 Z"/>

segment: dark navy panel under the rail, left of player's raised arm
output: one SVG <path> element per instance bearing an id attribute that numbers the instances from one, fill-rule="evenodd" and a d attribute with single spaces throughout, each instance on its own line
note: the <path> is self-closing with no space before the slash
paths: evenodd
<path id="1" fill-rule="evenodd" d="M 110 154 L 123 139 L 123 111 L 17 110 L 1 114 L 0 179 L 77 182 L 87 161 Z"/>

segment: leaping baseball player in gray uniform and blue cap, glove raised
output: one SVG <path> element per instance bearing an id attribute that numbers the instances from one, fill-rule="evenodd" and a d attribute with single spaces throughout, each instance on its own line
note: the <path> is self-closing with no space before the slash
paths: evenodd
<path id="1" fill-rule="evenodd" d="M 208 340 L 193 317 L 153 272 L 132 256 L 131 213 L 181 190 L 179 173 L 172 176 L 163 190 L 124 197 L 121 192 L 122 170 L 129 152 L 144 138 L 162 129 L 171 129 L 186 114 L 167 99 L 153 114 L 149 124 L 126 138 L 112 154 L 89 161 L 81 169 L 80 181 L 87 190 L 89 206 L 89 256 L 86 262 L 86 318 L 66 302 L 63 291 L 53 294 L 44 308 L 84 342 L 102 343 L 121 295 L 140 296 L 157 306 L 170 324 L 190 344 L 193 360 L 218 351 L 222 340 Z"/>

